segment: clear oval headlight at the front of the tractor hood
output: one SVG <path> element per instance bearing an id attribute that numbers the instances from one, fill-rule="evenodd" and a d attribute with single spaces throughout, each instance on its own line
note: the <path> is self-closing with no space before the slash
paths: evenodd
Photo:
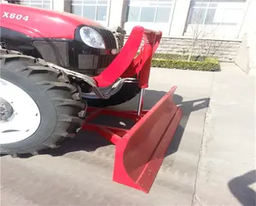
<path id="1" fill-rule="evenodd" d="M 84 26 L 80 29 L 80 37 L 88 46 L 96 49 L 105 49 L 102 36 L 94 29 Z"/>

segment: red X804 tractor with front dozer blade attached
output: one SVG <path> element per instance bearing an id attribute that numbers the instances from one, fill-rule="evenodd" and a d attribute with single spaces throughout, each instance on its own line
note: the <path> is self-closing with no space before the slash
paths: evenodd
<path id="1" fill-rule="evenodd" d="M 38 154 L 89 129 L 116 146 L 113 180 L 149 192 L 182 118 L 172 100 L 176 87 L 143 110 L 161 32 L 136 26 L 121 47 L 113 31 L 74 14 L 13 3 L 1 3 L 0 11 L 1 154 Z M 137 111 L 102 108 L 137 94 Z M 101 114 L 135 124 L 90 123 Z"/>

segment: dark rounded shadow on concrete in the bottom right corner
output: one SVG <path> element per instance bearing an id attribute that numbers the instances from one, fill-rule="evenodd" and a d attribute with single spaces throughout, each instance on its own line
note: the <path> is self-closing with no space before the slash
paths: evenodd
<path id="1" fill-rule="evenodd" d="M 256 192 L 249 186 L 256 183 L 256 170 L 238 176 L 229 182 L 230 192 L 244 206 L 256 205 Z"/>

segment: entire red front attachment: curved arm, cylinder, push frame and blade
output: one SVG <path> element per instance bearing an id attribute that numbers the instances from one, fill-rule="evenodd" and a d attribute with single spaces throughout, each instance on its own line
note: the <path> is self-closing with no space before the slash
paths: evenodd
<path id="1" fill-rule="evenodd" d="M 115 148 L 113 180 L 148 193 L 160 169 L 166 150 L 182 118 L 182 111 L 173 102 L 172 89 L 149 111 L 143 111 L 144 89 L 148 88 L 152 55 L 158 48 L 162 33 L 136 26 L 125 47 L 112 64 L 99 76 L 94 77 L 98 87 L 108 87 L 119 77 L 137 75 L 142 88 L 138 111 L 113 111 L 88 108 L 90 115 L 82 129 L 94 131 L 109 140 Z M 144 40 L 140 54 L 137 51 Z M 108 125 L 90 123 L 105 114 L 130 118 L 134 121 L 131 129 L 120 129 Z"/>

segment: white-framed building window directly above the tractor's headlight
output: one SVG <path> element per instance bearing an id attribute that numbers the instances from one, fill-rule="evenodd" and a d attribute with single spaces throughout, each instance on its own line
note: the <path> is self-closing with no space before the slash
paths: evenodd
<path id="1" fill-rule="evenodd" d="M 108 19 L 108 0 L 73 0 L 72 13 L 90 20 Z"/>

